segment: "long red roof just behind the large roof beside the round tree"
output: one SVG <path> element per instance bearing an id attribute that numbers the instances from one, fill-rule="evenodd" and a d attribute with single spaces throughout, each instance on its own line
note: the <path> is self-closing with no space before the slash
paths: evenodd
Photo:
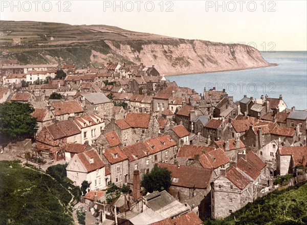
<path id="1" fill-rule="evenodd" d="M 177 158 L 194 160 L 195 155 L 200 156 L 204 152 L 210 152 L 213 150 L 215 150 L 215 148 L 209 146 L 183 145 L 178 151 Z"/>

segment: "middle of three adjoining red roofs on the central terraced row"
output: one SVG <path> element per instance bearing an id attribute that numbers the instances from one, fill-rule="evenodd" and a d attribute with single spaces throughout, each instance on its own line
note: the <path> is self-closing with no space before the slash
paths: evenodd
<path id="1" fill-rule="evenodd" d="M 150 152 L 149 146 L 144 142 L 138 142 L 133 145 L 124 147 L 123 149 L 125 155 L 130 162 L 141 159 L 147 154 L 145 152 Z"/>

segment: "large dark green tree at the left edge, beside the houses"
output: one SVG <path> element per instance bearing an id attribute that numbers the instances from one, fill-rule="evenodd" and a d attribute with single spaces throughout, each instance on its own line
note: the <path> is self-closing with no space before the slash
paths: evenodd
<path id="1" fill-rule="evenodd" d="M 28 103 L 6 102 L 0 105 L 0 140 L 32 138 L 37 131 L 34 108 Z"/>

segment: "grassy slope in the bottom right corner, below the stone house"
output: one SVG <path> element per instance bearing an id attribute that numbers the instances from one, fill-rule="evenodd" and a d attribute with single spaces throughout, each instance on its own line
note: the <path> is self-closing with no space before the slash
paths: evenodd
<path id="1" fill-rule="evenodd" d="M 307 183 L 303 183 L 274 191 L 224 220 L 206 221 L 205 224 L 307 224 L 306 202 Z"/>

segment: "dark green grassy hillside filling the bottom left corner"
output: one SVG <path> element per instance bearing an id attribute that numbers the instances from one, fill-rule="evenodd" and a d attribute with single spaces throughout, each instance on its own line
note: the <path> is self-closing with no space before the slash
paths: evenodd
<path id="1" fill-rule="evenodd" d="M 69 192 L 50 176 L 17 161 L 0 161 L 0 224 L 74 224 L 70 200 Z"/>

